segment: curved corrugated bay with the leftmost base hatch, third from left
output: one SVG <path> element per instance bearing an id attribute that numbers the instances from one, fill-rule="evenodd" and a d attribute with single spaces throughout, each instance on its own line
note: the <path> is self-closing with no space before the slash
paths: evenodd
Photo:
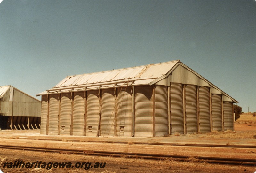
<path id="1" fill-rule="evenodd" d="M 60 135 L 70 135 L 71 93 L 62 93 L 60 99 Z"/>

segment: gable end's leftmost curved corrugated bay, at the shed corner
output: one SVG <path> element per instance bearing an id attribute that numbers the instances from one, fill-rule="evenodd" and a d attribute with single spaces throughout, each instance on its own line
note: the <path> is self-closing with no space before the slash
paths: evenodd
<path id="1" fill-rule="evenodd" d="M 155 87 L 155 136 L 168 135 L 168 87 Z"/>

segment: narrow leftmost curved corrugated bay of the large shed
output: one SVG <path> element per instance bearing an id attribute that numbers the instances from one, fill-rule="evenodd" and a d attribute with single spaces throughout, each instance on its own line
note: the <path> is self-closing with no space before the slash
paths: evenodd
<path id="1" fill-rule="evenodd" d="M 46 125 L 47 125 L 47 95 L 42 95 L 41 103 L 41 128 L 40 134 L 46 135 Z M 23 127 L 22 127 L 23 128 Z"/>

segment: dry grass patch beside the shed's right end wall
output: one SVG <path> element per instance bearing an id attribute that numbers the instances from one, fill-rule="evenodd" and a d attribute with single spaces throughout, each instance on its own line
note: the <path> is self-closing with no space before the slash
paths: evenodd
<path id="1" fill-rule="evenodd" d="M 233 131 L 226 131 L 226 132 L 217 132 L 212 131 L 209 133 L 205 133 L 200 135 L 200 138 L 233 138 L 233 139 L 254 139 L 254 136 L 256 136 L 256 132 L 233 132 Z M 229 144 L 227 144 L 229 145 Z"/>

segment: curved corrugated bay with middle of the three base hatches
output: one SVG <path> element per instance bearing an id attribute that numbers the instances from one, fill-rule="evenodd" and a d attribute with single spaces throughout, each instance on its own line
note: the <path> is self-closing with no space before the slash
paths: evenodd
<path id="1" fill-rule="evenodd" d="M 97 136 L 99 125 L 99 90 L 87 92 L 86 136 Z"/>

